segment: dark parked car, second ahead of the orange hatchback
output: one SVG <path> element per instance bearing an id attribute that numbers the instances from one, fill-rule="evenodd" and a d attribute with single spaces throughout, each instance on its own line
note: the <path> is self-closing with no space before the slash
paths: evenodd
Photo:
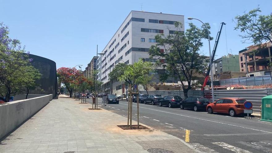
<path id="1" fill-rule="evenodd" d="M 170 108 L 179 106 L 182 101 L 181 96 L 165 96 L 163 99 L 159 100 L 159 106 L 168 106 Z"/>

